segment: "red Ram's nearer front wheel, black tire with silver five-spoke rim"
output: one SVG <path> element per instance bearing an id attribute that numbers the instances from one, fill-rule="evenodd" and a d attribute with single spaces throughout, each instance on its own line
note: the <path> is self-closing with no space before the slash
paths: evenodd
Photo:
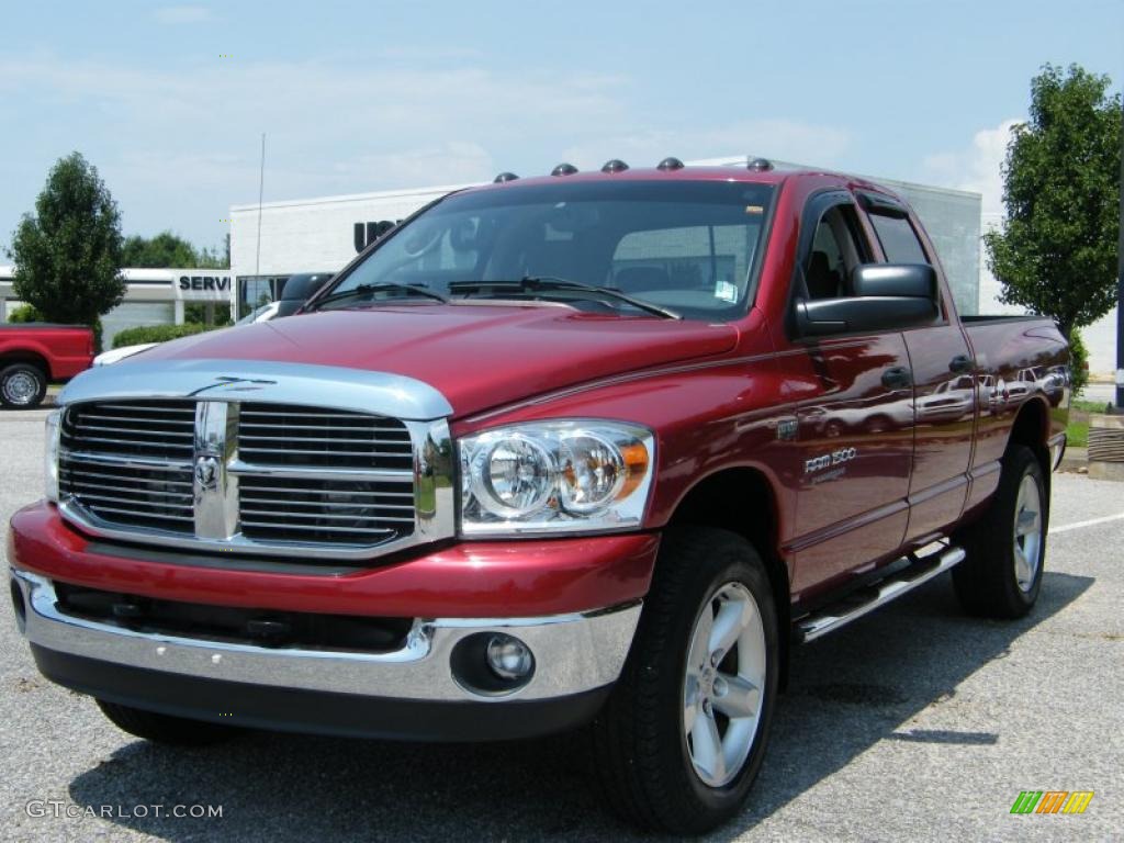
<path id="1" fill-rule="evenodd" d="M 778 636 L 749 542 L 708 527 L 664 536 L 625 669 L 592 727 L 614 809 L 672 834 L 741 810 L 769 738 Z"/>

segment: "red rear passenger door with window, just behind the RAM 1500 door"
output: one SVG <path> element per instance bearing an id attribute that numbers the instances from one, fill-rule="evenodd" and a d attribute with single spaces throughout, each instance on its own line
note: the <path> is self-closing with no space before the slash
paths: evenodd
<path id="1" fill-rule="evenodd" d="M 885 196 L 861 197 L 870 197 L 862 205 L 882 257 L 889 263 L 932 264 L 941 284 L 941 323 L 904 332 L 916 407 L 906 536 L 914 541 L 941 532 L 963 509 L 976 418 L 976 364 L 944 273 L 908 210 Z"/>

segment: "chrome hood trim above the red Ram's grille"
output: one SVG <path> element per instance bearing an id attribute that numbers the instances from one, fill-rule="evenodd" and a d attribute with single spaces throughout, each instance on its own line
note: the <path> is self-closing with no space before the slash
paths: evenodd
<path id="1" fill-rule="evenodd" d="M 162 398 L 334 407 L 411 422 L 453 413 L 439 391 L 406 375 L 254 360 L 126 360 L 78 375 L 58 405 Z"/>

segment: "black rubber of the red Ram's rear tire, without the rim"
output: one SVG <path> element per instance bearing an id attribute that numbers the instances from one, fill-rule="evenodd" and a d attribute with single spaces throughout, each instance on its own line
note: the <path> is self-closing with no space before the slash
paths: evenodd
<path id="1" fill-rule="evenodd" d="M 1027 474 L 1037 483 L 1042 502 L 1041 555 L 1033 584 L 1023 591 L 1015 577 L 1013 526 L 1018 488 Z M 1003 457 L 999 488 L 987 511 L 957 535 L 967 558 L 952 569 L 952 584 L 966 611 L 980 617 L 1018 618 L 1034 607 L 1042 588 L 1049 524 L 1050 497 L 1042 464 L 1030 448 L 1012 445 Z"/>

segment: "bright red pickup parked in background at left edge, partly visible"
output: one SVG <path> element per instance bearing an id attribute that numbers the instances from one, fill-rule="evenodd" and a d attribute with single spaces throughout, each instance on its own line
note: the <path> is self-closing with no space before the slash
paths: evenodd
<path id="1" fill-rule="evenodd" d="M 0 325 L 0 405 L 38 407 L 52 381 L 90 368 L 93 332 L 74 325 Z"/>

